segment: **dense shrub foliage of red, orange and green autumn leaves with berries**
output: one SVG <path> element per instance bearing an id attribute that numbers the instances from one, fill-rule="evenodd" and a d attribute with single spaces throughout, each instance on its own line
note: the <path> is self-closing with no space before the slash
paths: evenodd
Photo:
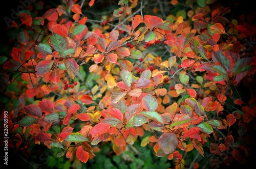
<path id="1" fill-rule="evenodd" d="M 94 21 L 82 12 L 93 0 L 64 2 L 40 16 L 21 12 L 9 24 L 19 30 L 17 45 L 1 59 L 11 153 L 29 158 L 42 144 L 87 163 L 102 143 L 119 156 L 140 139 L 172 168 L 203 167 L 187 162 L 195 151 L 207 152 L 211 167 L 249 162 L 252 15 L 230 20 L 231 10 L 218 1 L 197 1 L 185 16 L 161 18 L 142 15 L 140 1 L 120 0 Z"/>

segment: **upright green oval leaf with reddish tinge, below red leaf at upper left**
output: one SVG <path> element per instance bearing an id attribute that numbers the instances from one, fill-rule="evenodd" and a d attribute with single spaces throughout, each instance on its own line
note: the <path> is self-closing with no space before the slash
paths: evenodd
<path id="1" fill-rule="evenodd" d="M 62 53 L 67 47 L 67 41 L 59 34 L 53 34 L 50 38 L 52 47 L 59 53 Z"/>

